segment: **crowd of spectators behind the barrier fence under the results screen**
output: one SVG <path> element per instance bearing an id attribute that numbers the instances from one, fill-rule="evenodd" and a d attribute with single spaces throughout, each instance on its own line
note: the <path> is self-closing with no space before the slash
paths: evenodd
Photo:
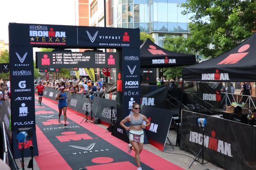
<path id="1" fill-rule="evenodd" d="M 42 84 L 46 87 L 59 90 L 60 86 L 65 86 L 65 92 L 86 94 L 87 92 L 104 92 L 106 91 L 106 82 L 103 78 L 100 78 L 96 82 L 92 82 L 88 78 L 82 78 L 81 80 L 60 78 L 58 80 L 43 81 Z"/>

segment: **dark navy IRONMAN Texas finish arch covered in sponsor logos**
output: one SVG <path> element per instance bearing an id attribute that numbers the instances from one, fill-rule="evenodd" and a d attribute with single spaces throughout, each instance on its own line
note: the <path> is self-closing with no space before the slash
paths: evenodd
<path id="1" fill-rule="evenodd" d="M 33 47 L 60 49 L 117 49 L 117 120 L 130 113 L 131 99 L 140 99 L 139 29 L 84 27 L 48 24 L 9 23 L 9 63 L 11 79 L 11 125 L 14 158 L 21 154 L 17 144 L 20 128 L 31 128 L 38 155 L 35 124 Z M 31 100 L 16 100 L 27 97 Z M 26 115 L 26 116 L 25 116 Z M 24 149 L 24 157 L 30 149 Z"/>

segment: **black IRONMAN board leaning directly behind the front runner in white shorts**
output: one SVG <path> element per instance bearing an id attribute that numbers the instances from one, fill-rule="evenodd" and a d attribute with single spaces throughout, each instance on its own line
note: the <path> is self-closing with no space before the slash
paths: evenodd
<path id="1" fill-rule="evenodd" d="M 164 146 L 173 118 L 173 112 L 152 108 L 150 106 L 142 106 L 141 113 L 151 122 L 151 124 L 145 128 L 149 143 L 156 146 L 160 151 L 164 151 Z"/>

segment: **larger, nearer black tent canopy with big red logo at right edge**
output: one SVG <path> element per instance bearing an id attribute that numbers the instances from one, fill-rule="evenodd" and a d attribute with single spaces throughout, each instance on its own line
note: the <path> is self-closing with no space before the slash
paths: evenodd
<path id="1" fill-rule="evenodd" d="M 218 57 L 183 68 L 183 80 L 214 82 L 256 81 L 256 33 Z"/>

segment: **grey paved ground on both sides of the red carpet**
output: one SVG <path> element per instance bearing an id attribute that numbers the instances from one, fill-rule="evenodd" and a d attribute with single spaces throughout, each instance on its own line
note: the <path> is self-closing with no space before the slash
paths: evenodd
<path id="1" fill-rule="evenodd" d="M 106 126 L 104 126 L 102 124 L 98 124 L 98 126 L 102 127 L 104 130 L 106 130 L 106 128 L 107 128 Z M 169 131 L 168 138 L 175 145 L 175 141 L 176 141 L 175 130 Z M 172 162 L 175 165 L 178 165 L 178 166 L 186 169 L 186 170 L 206 170 L 206 169 L 208 169 L 208 170 L 223 170 L 222 168 L 217 167 L 217 166 L 211 164 L 210 162 L 207 163 L 206 165 L 201 165 L 198 162 L 194 162 L 192 167 L 189 169 L 189 165 L 192 163 L 195 156 L 192 154 L 189 154 L 185 151 L 179 150 L 179 147 L 176 147 L 176 146 L 174 146 L 175 149 L 173 150 L 173 148 L 170 145 L 166 145 L 164 152 L 159 151 L 157 148 L 155 148 L 154 146 L 152 146 L 150 144 L 145 144 L 143 148 L 146 149 L 147 151 L 150 151 L 150 152 L 158 155 L 159 157 L 166 159 L 169 162 Z M 21 159 L 15 159 L 19 168 L 21 168 L 20 160 Z M 28 169 L 27 167 L 28 167 L 29 160 L 30 160 L 29 157 L 24 158 L 25 169 Z M 34 164 L 34 170 L 39 170 L 39 167 L 38 167 L 35 159 L 33 161 L 33 164 Z"/>

